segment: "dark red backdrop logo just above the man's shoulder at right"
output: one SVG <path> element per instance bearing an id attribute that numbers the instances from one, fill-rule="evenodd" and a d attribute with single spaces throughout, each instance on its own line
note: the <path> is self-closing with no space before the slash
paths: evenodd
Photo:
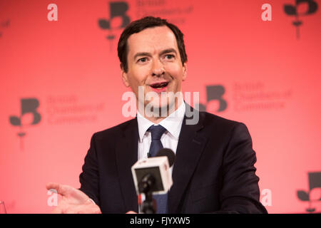
<path id="1" fill-rule="evenodd" d="M 225 88 L 222 85 L 215 86 L 206 86 L 206 104 L 200 103 L 200 111 L 206 111 L 208 108 L 208 103 L 210 101 L 217 101 L 218 108 L 215 110 L 216 112 L 223 112 L 226 108 L 228 108 L 228 103 L 223 98 L 225 93 Z"/>

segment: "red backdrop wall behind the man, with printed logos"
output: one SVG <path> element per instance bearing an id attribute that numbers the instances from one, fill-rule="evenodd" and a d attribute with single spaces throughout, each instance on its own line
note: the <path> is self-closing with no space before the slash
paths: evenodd
<path id="1" fill-rule="evenodd" d="M 111 31 L 98 26 L 110 19 L 109 2 L 0 1 L 0 199 L 9 213 L 51 212 L 46 182 L 80 187 L 91 135 L 127 119 L 116 52 L 122 20 Z M 321 172 L 321 1 L 299 17 L 300 38 L 283 9 L 295 0 L 125 2 L 131 21 L 152 14 L 178 25 L 188 53 L 183 90 L 200 92 L 208 112 L 248 126 L 260 190 L 272 193 L 268 212 L 305 212 L 297 190 L 308 190 L 308 172 Z M 51 3 L 58 21 L 47 19 Z M 265 3 L 272 21 L 261 19 Z M 206 101 L 212 85 L 225 88 L 223 112 Z M 22 98 L 39 100 L 41 122 L 24 115 L 21 140 L 9 116 L 20 115 Z M 314 207 L 320 212 L 320 202 Z"/>

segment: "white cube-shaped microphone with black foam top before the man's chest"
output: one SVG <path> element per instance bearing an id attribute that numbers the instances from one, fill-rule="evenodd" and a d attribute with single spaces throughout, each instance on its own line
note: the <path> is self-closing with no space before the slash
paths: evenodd
<path id="1" fill-rule="evenodd" d="M 175 153 L 168 148 L 159 150 L 155 157 L 138 160 L 131 167 L 137 195 L 168 192 L 173 185 L 170 167 L 174 162 Z"/>

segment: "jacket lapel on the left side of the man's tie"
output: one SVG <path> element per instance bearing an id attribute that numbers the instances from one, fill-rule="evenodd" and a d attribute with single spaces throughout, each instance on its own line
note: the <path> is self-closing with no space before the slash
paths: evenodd
<path id="1" fill-rule="evenodd" d="M 138 125 L 136 118 L 121 128 L 123 134 L 116 142 L 116 162 L 125 212 L 138 211 L 138 201 L 131 167 L 138 159 Z"/>

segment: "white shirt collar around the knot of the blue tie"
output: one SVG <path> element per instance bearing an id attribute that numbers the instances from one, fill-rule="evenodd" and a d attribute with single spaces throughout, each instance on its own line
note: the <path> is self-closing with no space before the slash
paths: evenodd
<path id="1" fill-rule="evenodd" d="M 182 102 L 180 107 L 178 107 L 175 112 L 171 113 L 163 119 L 159 125 L 162 125 L 168 132 L 173 135 L 173 137 L 178 140 L 178 137 L 180 135 L 180 128 L 183 123 L 185 115 L 185 103 Z M 151 125 L 155 125 L 155 123 L 151 122 L 151 120 L 146 119 L 137 111 L 137 122 L 138 122 L 138 133 L 139 133 L 139 141 L 142 142 L 143 136 L 146 133 L 146 130 L 148 130 Z"/>

